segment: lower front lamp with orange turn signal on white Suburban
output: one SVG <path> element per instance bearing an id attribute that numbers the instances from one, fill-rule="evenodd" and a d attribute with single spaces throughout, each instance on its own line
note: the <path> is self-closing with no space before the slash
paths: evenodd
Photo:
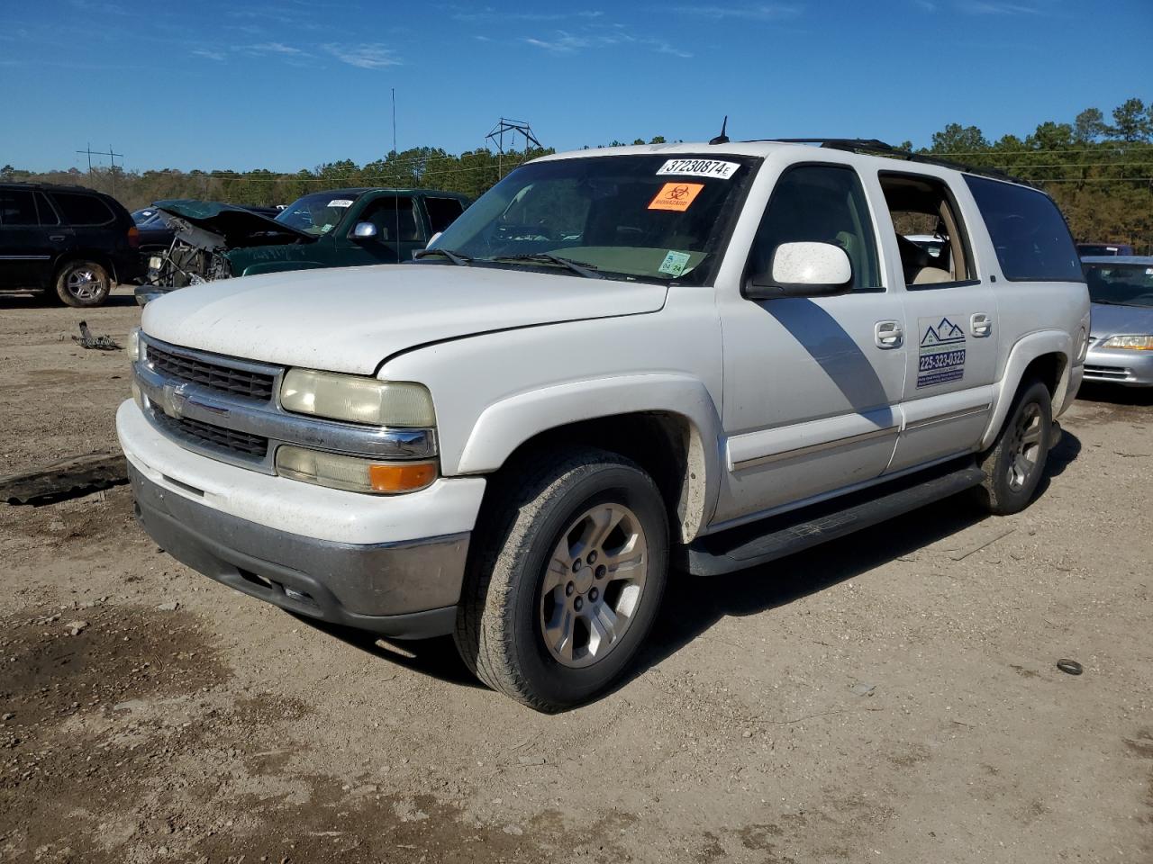
<path id="1" fill-rule="evenodd" d="M 398 494 L 416 492 L 437 477 L 436 462 L 375 462 L 357 456 L 303 447 L 277 448 L 277 473 L 318 486 L 349 492 Z"/>

